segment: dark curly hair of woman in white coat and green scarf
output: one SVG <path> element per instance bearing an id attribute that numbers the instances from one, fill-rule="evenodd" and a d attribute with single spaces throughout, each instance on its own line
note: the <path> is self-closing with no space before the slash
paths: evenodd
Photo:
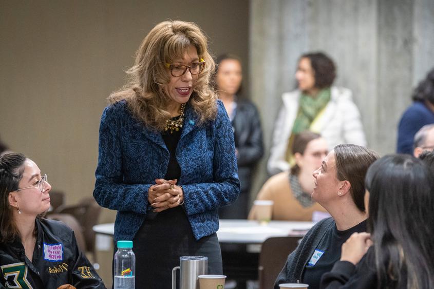
<path id="1" fill-rule="evenodd" d="M 315 87 L 327 88 L 333 84 L 336 78 L 336 66 L 333 60 L 323 52 L 309 52 L 300 56 L 300 59 L 307 58 L 314 71 Z"/>

